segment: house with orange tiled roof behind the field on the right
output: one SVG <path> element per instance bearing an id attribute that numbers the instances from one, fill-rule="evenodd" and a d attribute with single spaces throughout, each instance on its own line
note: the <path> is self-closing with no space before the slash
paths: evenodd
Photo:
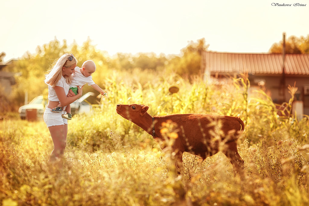
<path id="1" fill-rule="evenodd" d="M 248 72 L 251 86 L 263 86 L 274 103 L 289 102 L 287 86 L 298 87 L 303 114 L 309 115 L 309 54 L 221 53 L 205 51 L 204 78 L 222 82 Z M 284 62 L 284 64 L 283 64 Z"/>

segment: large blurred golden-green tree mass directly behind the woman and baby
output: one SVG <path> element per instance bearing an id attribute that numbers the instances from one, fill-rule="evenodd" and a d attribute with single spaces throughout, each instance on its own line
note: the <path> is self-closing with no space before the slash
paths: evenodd
<path id="1" fill-rule="evenodd" d="M 20 74 L 15 77 L 16 84 L 13 86 L 13 92 L 10 97 L 16 106 L 19 107 L 23 104 L 26 91 L 29 95 L 28 99 L 33 99 L 41 94 L 47 94 L 48 86 L 44 84 L 45 74 L 47 74 L 46 72 L 53 65 L 53 62 L 64 53 L 73 53 L 78 59 L 78 66 L 80 67 L 88 59 L 95 61 L 97 67 L 97 71 L 93 74 L 95 82 L 98 85 L 103 84 L 109 65 L 109 60 L 104 56 L 104 52 L 97 50 L 91 44 L 90 39 L 87 39 L 82 47 L 79 47 L 76 42 L 68 46 L 66 40 L 63 40 L 61 44 L 55 38 L 48 44 L 37 46 L 35 54 L 27 52 L 18 61 L 4 68 Z M 84 93 L 90 90 L 92 91 L 93 88 L 86 86 Z"/>

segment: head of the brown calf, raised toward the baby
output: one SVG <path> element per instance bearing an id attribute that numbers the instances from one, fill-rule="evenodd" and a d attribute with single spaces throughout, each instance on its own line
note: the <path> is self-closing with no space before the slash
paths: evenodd
<path id="1" fill-rule="evenodd" d="M 117 104 L 116 112 L 123 118 L 136 123 L 142 121 L 142 117 L 147 113 L 148 106 L 141 104 Z"/>

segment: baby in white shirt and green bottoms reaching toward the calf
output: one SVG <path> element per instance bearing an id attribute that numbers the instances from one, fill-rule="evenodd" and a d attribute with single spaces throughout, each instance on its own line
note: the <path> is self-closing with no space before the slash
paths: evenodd
<path id="1" fill-rule="evenodd" d="M 92 86 L 95 90 L 101 93 L 101 95 L 107 95 L 103 89 L 101 89 L 95 82 L 92 80 L 91 74 L 95 72 L 95 63 L 92 60 L 87 60 L 83 63 L 82 68 L 78 66 L 75 67 L 75 72 L 72 74 L 72 82 L 70 84 L 70 90 L 77 95 L 77 86 L 83 86 L 88 83 L 89 86 Z M 57 107 L 51 109 L 53 112 L 62 112 L 62 105 L 59 103 Z M 72 119 L 71 107 L 70 104 L 66 106 L 66 115 L 62 115 L 62 118 L 67 120 Z"/>

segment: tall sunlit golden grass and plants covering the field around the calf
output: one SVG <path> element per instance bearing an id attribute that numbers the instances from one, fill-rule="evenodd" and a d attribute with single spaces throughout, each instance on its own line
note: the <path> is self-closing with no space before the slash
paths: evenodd
<path id="1" fill-rule="evenodd" d="M 53 143 L 44 122 L 0 122 L 0 204 L 309 204 L 308 119 L 280 118 L 269 96 L 252 90 L 246 74 L 229 84 L 208 85 L 199 77 L 189 82 L 176 74 L 133 70 L 114 72 L 104 83 L 108 97 L 100 106 L 69 122 L 61 170 L 48 163 Z M 173 95 L 172 85 L 180 88 Z M 238 141 L 245 174 L 234 176 L 222 153 L 205 161 L 185 153 L 185 175 L 175 177 L 171 154 L 117 115 L 118 103 L 147 105 L 152 116 L 239 116 L 245 122 Z"/>

